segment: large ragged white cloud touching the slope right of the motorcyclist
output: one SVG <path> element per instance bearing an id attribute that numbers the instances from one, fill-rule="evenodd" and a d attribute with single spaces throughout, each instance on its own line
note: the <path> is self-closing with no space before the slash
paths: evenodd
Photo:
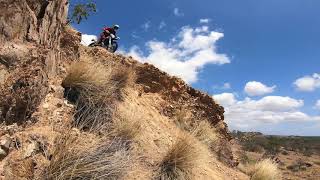
<path id="1" fill-rule="evenodd" d="M 183 27 L 169 42 L 152 40 L 146 43 L 148 52 L 144 54 L 134 46 L 126 53 L 141 62 L 154 64 L 171 75 L 188 83 L 198 80 L 198 73 L 207 64 L 230 63 L 225 54 L 219 54 L 216 42 L 223 33 L 210 31 L 209 27 Z"/>

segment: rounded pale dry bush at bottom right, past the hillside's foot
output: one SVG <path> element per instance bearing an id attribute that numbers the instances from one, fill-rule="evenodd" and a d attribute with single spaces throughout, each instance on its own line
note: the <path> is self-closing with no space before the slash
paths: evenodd
<path id="1" fill-rule="evenodd" d="M 270 159 L 265 159 L 254 165 L 251 172 L 251 180 L 280 180 L 281 173 L 277 164 Z"/>

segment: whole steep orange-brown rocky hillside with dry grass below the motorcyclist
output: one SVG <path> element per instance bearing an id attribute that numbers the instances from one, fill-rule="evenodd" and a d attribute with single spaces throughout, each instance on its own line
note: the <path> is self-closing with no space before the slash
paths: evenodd
<path id="1" fill-rule="evenodd" d="M 249 179 L 209 95 L 81 46 L 67 0 L 0 4 L 1 179 Z"/>

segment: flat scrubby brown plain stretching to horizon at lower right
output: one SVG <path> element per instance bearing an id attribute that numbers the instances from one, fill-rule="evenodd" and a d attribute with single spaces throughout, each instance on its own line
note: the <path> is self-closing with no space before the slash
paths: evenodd
<path id="1" fill-rule="evenodd" d="M 240 131 L 232 134 L 240 166 L 272 158 L 279 164 L 283 179 L 319 179 L 319 137 L 271 136 Z"/>

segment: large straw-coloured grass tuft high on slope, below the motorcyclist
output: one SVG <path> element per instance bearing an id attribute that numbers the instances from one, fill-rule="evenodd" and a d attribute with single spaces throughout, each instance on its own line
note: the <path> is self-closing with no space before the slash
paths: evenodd
<path id="1" fill-rule="evenodd" d="M 76 104 L 75 124 L 88 131 L 104 130 L 112 119 L 114 102 L 133 79 L 130 70 L 99 63 L 76 62 L 62 82 L 65 97 Z"/>

